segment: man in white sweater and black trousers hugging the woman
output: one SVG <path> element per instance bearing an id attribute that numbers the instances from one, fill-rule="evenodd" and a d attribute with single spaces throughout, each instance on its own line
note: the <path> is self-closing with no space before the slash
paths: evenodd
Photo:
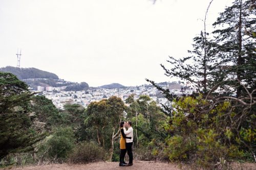
<path id="1" fill-rule="evenodd" d="M 132 152 L 132 145 L 133 145 L 133 128 L 132 128 L 132 122 L 128 121 L 126 123 L 126 127 L 128 130 L 123 128 L 124 134 L 126 137 L 132 137 L 131 139 L 126 138 L 125 139 L 125 148 L 127 150 L 127 154 L 129 155 L 129 163 L 126 166 L 133 165 L 133 152 Z"/>

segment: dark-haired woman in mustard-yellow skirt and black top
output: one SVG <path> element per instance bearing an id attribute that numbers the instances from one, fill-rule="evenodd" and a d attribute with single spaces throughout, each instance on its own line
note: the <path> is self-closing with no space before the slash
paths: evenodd
<path id="1" fill-rule="evenodd" d="M 119 157 L 119 166 L 125 166 L 126 162 L 124 162 L 124 156 L 126 154 L 126 148 L 125 148 L 125 138 L 131 139 L 132 137 L 126 137 L 123 131 L 124 128 L 124 122 L 122 121 L 120 123 L 120 132 L 121 132 L 121 138 L 120 138 L 120 157 Z"/>

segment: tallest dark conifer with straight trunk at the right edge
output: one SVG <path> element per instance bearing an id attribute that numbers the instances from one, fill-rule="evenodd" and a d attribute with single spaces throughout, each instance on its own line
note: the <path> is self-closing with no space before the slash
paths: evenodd
<path id="1" fill-rule="evenodd" d="M 213 24 L 217 30 L 219 71 L 223 75 L 223 91 L 230 91 L 238 98 L 246 93 L 239 81 L 250 89 L 256 87 L 256 42 L 248 31 L 255 30 L 255 10 L 249 11 L 251 1 L 235 0 L 232 6 L 220 13 Z M 238 81 L 237 81 L 238 80 Z M 234 90 L 232 90 L 234 89 Z"/>

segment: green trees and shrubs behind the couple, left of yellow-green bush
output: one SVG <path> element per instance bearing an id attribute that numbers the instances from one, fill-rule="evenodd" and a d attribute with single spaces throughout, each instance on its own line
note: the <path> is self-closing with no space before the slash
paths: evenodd
<path id="1" fill-rule="evenodd" d="M 153 159 L 151 140 L 163 131 L 166 116 L 146 95 L 126 103 L 116 96 L 87 109 L 51 100 L 28 90 L 15 75 L 0 72 L 0 164 L 119 160 L 119 123 L 132 120 L 137 159 Z M 144 152 L 146 151 L 146 153 Z M 163 157 L 163 159 L 165 159 Z"/>

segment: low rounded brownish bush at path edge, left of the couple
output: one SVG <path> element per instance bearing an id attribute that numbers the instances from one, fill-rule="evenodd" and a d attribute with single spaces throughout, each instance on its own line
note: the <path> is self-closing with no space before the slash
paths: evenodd
<path id="1" fill-rule="evenodd" d="M 73 152 L 69 155 L 71 163 L 88 163 L 106 160 L 106 152 L 95 142 L 83 141 L 77 143 Z"/>

